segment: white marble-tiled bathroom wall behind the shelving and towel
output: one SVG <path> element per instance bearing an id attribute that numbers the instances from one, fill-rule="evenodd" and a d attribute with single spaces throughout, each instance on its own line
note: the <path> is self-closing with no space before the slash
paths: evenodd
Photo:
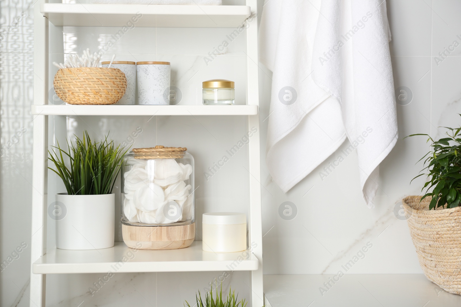
<path id="1" fill-rule="evenodd" d="M 270 1 L 270 0 L 269 0 Z M 243 4 L 228 0 L 226 4 Z M 260 11 L 264 2 L 261 0 Z M 316 5 L 317 2 L 313 1 Z M 2 30 L 12 25 L 0 42 L 1 64 L 1 175 L 0 175 L 0 260 L 14 259 L 0 272 L 0 305 L 29 306 L 30 208 L 32 175 L 33 19 L 32 1 L 1 1 Z M 28 6 L 30 6 L 28 8 Z M 422 165 L 416 164 L 428 146 L 424 138 L 403 139 L 411 133 L 439 137 L 439 126 L 456 126 L 461 121 L 461 46 L 448 56 L 439 52 L 454 41 L 461 43 L 459 12 L 455 0 L 388 0 L 392 41 L 390 51 L 396 88 L 406 90 L 411 101 L 397 104 L 399 141 L 380 168 L 375 206 L 368 209 L 361 196 L 357 157 L 344 157 L 327 177 L 319 173 L 342 155 L 341 148 L 284 194 L 265 164 L 266 130 L 269 116 L 271 72 L 260 64 L 261 194 L 263 201 L 263 251 L 265 274 L 336 273 L 367 243 L 372 247 L 348 273 L 421 273 L 408 226 L 399 215 L 406 195 L 417 195 L 423 179 L 410 180 Z M 23 13 L 25 12 L 25 13 Z M 27 14 L 27 17 L 24 17 Z M 22 16 L 18 25 L 14 18 Z M 96 50 L 108 43 L 117 28 L 73 28 L 50 25 L 50 63 L 62 62 L 65 53 L 89 47 Z M 246 82 L 245 33 L 229 42 L 224 54 L 205 61 L 208 52 L 226 40 L 230 29 L 130 29 L 115 42 L 104 59 L 164 60 L 172 66 L 172 85 L 179 88 L 180 104 L 200 104 L 201 81 L 216 77 L 236 81 L 236 103 L 244 104 Z M 64 33 L 64 35 L 63 35 Z M 136 42 L 142 44 L 135 45 Z M 136 47 L 135 47 L 136 46 Z M 446 53 L 448 54 L 448 53 Z M 208 63 L 207 63 L 208 62 Z M 50 80 L 57 70 L 49 66 Z M 240 86 L 239 86 L 240 85 Z M 399 90 L 400 90 L 399 89 Z M 51 90 L 52 91 L 52 90 Z M 52 92 L 50 92 L 52 93 Z M 399 92 L 400 93 L 400 92 Z M 60 104 L 50 95 L 50 104 Z M 405 105 L 403 105 L 405 104 Z M 87 129 L 94 137 L 110 133 L 117 142 L 128 140 L 134 147 L 151 145 L 186 146 L 195 156 L 196 217 L 201 232 L 201 214 L 207 211 L 242 211 L 248 208 L 248 151 L 239 151 L 208 180 L 206 169 L 221 158 L 248 131 L 247 122 L 237 116 L 150 116 L 143 117 L 50 117 L 50 144 Z M 136 139 L 129 135 L 137 127 Z M 315 145 L 315 144 L 313 144 Z M 63 185 L 49 175 L 49 199 L 63 191 Z M 236 192 L 238 191 L 238 192 Z M 296 214 L 279 215 L 284 202 L 296 206 Z M 295 212 L 295 210 L 293 211 Z M 47 248 L 54 246 L 54 221 L 48 219 Z M 116 234 L 121 239 L 120 232 Z M 13 254 L 27 244 L 21 253 Z M 222 272 L 118 273 L 97 293 L 89 287 L 101 274 L 47 276 L 47 306 L 181 306 L 191 301 L 197 289 Z M 250 298 L 248 272 L 234 272 L 225 278 L 242 297 Z"/>

